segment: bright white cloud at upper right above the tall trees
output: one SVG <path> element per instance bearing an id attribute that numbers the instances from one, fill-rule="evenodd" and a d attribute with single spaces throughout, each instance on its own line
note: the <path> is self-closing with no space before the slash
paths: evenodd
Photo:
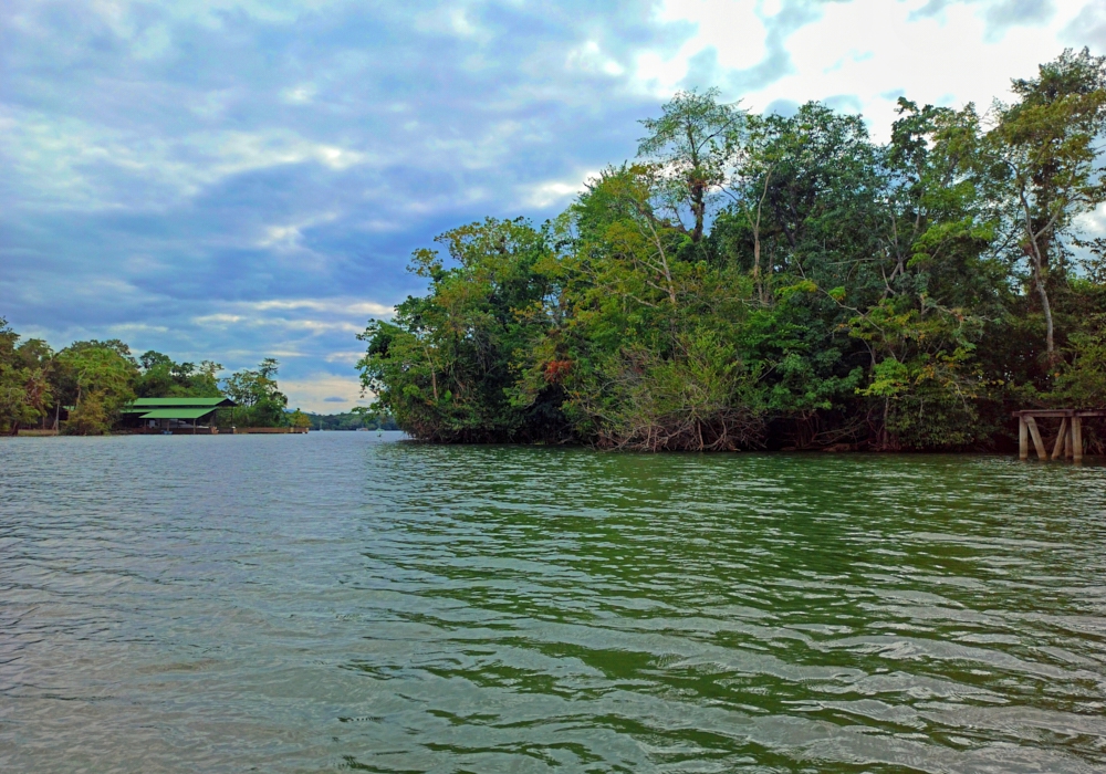
<path id="1" fill-rule="evenodd" d="M 1070 25 L 1094 0 L 1054 0 L 1048 13 L 1018 23 L 1002 0 L 951 0 L 938 12 L 930 0 L 851 0 L 801 6 L 784 0 L 665 0 L 656 19 L 684 23 L 691 35 L 675 51 L 645 46 L 633 54 L 633 87 L 667 100 L 687 86 L 722 87 L 754 111 L 776 100 L 803 103 L 852 97 L 884 139 L 895 118 L 895 97 L 985 109 L 1008 96 L 1011 77 L 1032 74 L 1039 63 L 1071 44 Z M 772 25 L 783 11 L 803 8 L 805 21 L 783 41 L 786 66 L 769 83 L 734 92 L 743 74 L 765 61 Z M 1032 9 L 1030 9 L 1032 10 Z M 1102 52 L 1099 52 L 1102 53 Z M 697 66 L 697 62 L 703 66 Z M 734 81 L 734 76 L 737 80 Z M 702 82 L 689 82 L 695 79 Z"/>

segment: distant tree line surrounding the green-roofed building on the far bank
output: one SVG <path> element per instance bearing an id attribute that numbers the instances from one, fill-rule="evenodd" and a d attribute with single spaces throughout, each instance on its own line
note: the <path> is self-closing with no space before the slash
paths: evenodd
<path id="1" fill-rule="evenodd" d="M 135 398 L 165 397 L 229 397 L 238 406 L 218 412 L 222 426 L 309 423 L 299 411 L 285 410 L 274 358 L 220 379 L 218 363 L 177 363 L 153 349 L 135 357 L 117 338 L 74 342 L 59 352 L 41 338 L 21 338 L 0 317 L 0 431 L 6 433 L 22 427 L 102 435 L 119 425 Z"/>

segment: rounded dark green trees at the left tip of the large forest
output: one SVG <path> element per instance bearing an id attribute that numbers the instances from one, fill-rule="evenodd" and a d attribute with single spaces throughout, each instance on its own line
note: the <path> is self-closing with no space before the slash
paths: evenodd
<path id="1" fill-rule="evenodd" d="M 563 422 L 542 397 L 520 405 L 509 395 L 519 378 L 517 353 L 544 326 L 530 313 L 552 291 L 538 265 L 549 255 L 543 233 L 523 220 L 487 220 L 419 250 L 411 271 L 430 282 L 426 297 L 409 297 L 392 322 L 373 322 L 362 336 L 359 363 L 367 389 L 400 427 L 436 441 L 556 441 Z"/>

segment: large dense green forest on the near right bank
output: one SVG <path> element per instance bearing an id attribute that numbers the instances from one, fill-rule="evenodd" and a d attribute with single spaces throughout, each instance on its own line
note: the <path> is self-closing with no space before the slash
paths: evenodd
<path id="1" fill-rule="evenodd" d="M 810 103 L 680 93 L 557 218 L 414 253 L 371 321 L 379 407 L 441 442 L 994 449 L 1010 411 L 1106 405 L 1106 65 L 1012 101 L 898 101 L 887 143 Z M 1081 228 L 1082 227 L 1082 228 Z M 1092 437 L 1102 451 L 1102 438 Z"/>

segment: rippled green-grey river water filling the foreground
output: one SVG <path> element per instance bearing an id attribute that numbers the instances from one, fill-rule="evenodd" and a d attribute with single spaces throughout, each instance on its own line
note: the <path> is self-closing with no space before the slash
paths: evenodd
<path id="1" fill-rule="evenodd" d="M 0 442 L 3 772 L 1106 771 L 1106 468 Z"/>

